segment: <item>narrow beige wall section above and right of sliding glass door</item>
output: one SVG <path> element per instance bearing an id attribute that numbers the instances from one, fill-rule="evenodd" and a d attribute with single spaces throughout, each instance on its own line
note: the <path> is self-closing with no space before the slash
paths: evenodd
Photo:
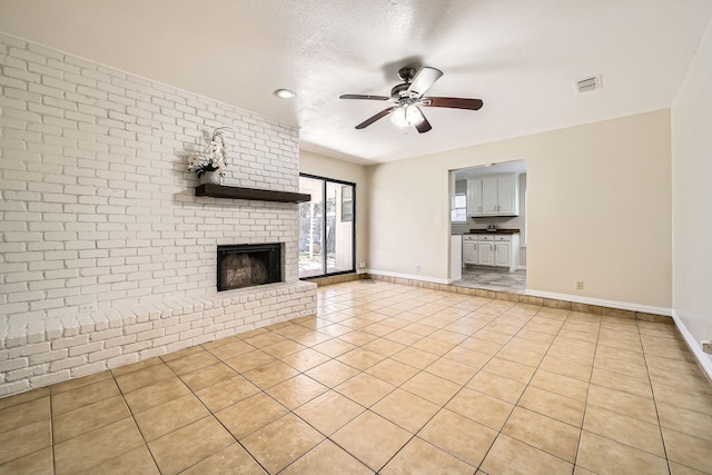
<path id="1" fill-rule="evenodd" d="M 325 157 L 307 150 L 299 151 L 299 172 L 356 184 L 356 263 L 368 263 L 368 176 L 366 167 Z"/>

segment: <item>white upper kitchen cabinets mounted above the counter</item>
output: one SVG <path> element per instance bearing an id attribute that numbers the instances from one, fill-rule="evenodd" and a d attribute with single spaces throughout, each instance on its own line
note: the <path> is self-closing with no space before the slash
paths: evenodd
<path id="1" fill-rule="evenodd" d="M 467 215 L 518 216 L 520 188 L 516 175 L 467 180 Z"/>

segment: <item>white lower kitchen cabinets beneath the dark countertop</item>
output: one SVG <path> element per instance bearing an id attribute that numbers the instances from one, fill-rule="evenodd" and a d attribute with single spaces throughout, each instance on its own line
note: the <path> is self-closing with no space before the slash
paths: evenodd
<path id="1" fill-rule="evenodd" d="M 507 267 L 516 270 L 520 235 L 463 236 L 463 264 L 472 266 Z"/>

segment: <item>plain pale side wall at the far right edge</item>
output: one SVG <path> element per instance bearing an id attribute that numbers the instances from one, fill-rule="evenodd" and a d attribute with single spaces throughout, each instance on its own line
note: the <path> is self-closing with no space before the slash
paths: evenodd
<path id="1" fill-rule="evenodd" d="M 712 339 L 712 22 L 672 107 L 673 308 L 700 348 Z M 712 358 L 706 358 L 712 372 Z M 710 373 L 712 377 L 712 373 Z"/>

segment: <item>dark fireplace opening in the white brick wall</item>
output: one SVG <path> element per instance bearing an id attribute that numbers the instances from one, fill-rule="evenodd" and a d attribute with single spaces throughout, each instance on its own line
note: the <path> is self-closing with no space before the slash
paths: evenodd
<path id="1" fill-rule="evenodd" d="M 218 246 L 218 291 L 281 281 L 280 243 Z"/>

